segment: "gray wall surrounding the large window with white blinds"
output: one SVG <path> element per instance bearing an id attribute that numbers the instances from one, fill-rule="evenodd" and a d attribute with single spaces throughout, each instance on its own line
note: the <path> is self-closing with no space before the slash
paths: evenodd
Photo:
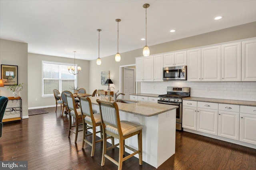
<path id="1" fill-rule="evenodd" d="M 74 63 L 74 59 L 70 59 L 70 58 L 28 53 L 28 65 L 29 65 L 28 107 L 29 108 L 42 108 L 42 107 L 55 105 L 54 97 L 42 98 L 42 61 Z M 89 90 L 89 83 L 88 83 L 89 61 L 76 59 L 76 64 L 82 67 L 81 72 L 78 74 L 78 88 L 85 88 L 86 91 L 88 91 Z"/>

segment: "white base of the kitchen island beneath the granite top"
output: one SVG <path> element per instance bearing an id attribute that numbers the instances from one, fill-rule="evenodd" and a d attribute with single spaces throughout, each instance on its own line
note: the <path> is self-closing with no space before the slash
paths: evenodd
<path id="1" fill-rule="evenodd" d="M 96 105 L 92 105 L 92 107 L 93 109 L 99 110 L 99 107 Z M 120 120 L 143 125 L 142 160 L 144 162 L 158 168 L 158 166 L 175 154 L 176 109 L 149 117 L 126 113 L 124 111 L 119 111 L 119 115 Z M 109 143 L 111 143 L 111 140 Z M 116 143 L 119 143 L 118 139 L 115 139 Z M 125 145 L 138 149 L 137 135 L 126 139 Z M 127 148 L 125 151 L 132 153 Z M 138 158 L 138 154 L 135 156 Z"/>

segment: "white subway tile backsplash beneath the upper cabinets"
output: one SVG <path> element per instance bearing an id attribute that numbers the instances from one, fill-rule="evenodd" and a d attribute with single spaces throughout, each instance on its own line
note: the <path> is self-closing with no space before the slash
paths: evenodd
<path id="1" fill-rule="evenodd" d="M 168 86 L 190 87 L 190 96 L 256 102 L 256 82 L 141 82 L 141 93 L 166 94 Z"/>

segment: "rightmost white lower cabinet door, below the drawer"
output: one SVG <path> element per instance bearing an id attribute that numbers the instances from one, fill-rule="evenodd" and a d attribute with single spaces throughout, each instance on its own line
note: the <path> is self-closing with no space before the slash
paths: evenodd
<path id="1" fill-rule="evenodd" d="M 240 141 L 256 145 L 256 115 L 240 113 Z"/>

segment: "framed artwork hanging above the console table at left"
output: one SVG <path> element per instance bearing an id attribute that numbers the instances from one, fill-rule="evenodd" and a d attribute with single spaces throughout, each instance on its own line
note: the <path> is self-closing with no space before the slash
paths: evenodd
<path id="1" fill-rule="evenodd" d="M 1 79 L 4 86 L 18 84 L 18 66 L 1 64 Z"/>

